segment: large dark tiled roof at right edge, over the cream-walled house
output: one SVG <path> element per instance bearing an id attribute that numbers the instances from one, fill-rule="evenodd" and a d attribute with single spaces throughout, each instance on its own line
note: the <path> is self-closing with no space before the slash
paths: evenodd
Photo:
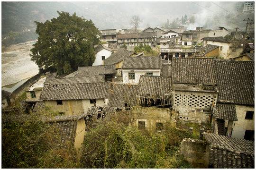
<path id="1" fill-rule="evenodd" d="M 215 60 L 218 102 L 254 105 L 254 61 Z"/>

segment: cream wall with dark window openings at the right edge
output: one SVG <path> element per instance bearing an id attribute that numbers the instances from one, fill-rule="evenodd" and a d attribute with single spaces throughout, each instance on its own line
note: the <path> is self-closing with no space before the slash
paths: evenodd
<path id="1" fill-rule="evenodd" d="M 248 120 L 245 119 L 246 111 L 254 111 L 254 107 L 252 106 L 244 106 L 244 105 L 235 105 L 238 121 L 235 121 L 235 126 L 233 128 L 232 137 L 243 139 L 245 136 L 246 130 L 254 130 L 254 115 L 253 119 Z"/>

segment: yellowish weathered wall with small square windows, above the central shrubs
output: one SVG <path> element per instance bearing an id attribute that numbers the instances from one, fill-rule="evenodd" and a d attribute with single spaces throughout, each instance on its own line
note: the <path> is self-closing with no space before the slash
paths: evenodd
<path id="1" fill-rule="evenodd" d="M 145 121 L 145 127 L 149 133 L 155 132 L 157 122 L 163 123 L 165 127 L 167 121 L 171 120 L 170 122 L 172 123 L 172 119 L 174 119 L 171 110 L 156 107 L 135 106 L 131 109 L 131 114 L 134 121 L 132 126 L 138 127 L 138 121 Z"/>

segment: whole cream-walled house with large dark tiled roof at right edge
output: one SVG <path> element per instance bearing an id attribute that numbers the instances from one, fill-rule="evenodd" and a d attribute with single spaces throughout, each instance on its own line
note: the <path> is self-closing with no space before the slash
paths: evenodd
<path id="1" fill-rule="evenodd" d="M 216 60 L 214 71 L 219 87 L 216 131 L 254 140 L 254 61 Z"/>

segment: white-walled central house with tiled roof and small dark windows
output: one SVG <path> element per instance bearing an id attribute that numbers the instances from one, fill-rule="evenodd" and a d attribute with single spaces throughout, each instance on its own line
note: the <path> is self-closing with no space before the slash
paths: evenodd
<path id="1" fill-rule="evenodd" d="M 161 69 L 161 57 L 125 57 L 123 84 L 138 84 L 141 75 L 160 76 Z"/>

